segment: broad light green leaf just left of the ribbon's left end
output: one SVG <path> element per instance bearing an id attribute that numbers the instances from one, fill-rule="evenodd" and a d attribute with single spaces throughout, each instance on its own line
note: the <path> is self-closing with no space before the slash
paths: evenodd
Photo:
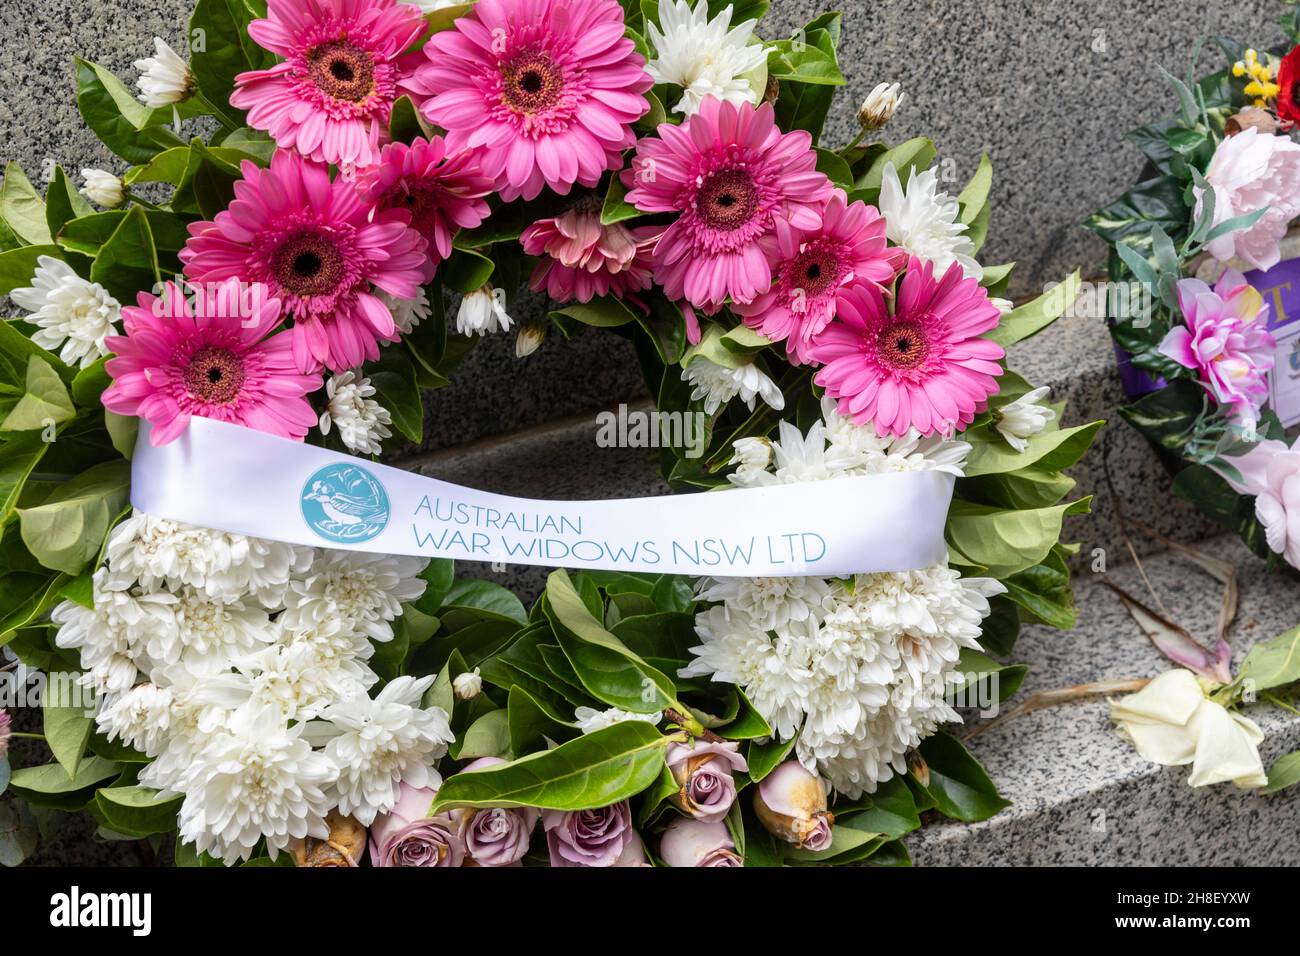
<path id="1" fill-rule="evenodd" d="M 46 567 L 79 574 L 126 506 L 130 481 L 130 464 L 122 460 L 65 481 L 43 503 L 18 510 L 23 544 Z"/>

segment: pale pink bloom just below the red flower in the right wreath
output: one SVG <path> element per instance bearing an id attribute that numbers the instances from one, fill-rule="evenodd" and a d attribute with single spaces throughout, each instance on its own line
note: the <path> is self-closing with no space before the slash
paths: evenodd
<path id="1" fill-rule="evenodd" d="M 1256 269 L 1277 265 L 1282 259 L 1278 243 L 1291 220 L 1300 216 L 1300 144 L 1244 129 L 1218 144 L 1205 181 L 1214 190 L 1214 225 L 1268 207 L 1254 225 L 1210 242 L 1210 255 L 1219 261 L 1236 256 Z M 1193 190 L 1200 217 L 1205 190 Z"/>

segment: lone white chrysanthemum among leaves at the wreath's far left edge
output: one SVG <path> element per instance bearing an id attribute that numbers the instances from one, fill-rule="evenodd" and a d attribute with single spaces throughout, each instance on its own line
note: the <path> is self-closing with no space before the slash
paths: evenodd
<path id="1" fill-rule="evenodd" d="M 108 355 L 104 338 L 117 332 L 122 315 L 117 299 L 99 282 L 73 272 L 73 268 L 51 256 L 36 256 L 31 285 L 9 293 L 14 304 L 31 315 L 23 321 L 36 326 L 31 341 L 47 351 L 58 351 L 69 365 L 82 368 Z"/>

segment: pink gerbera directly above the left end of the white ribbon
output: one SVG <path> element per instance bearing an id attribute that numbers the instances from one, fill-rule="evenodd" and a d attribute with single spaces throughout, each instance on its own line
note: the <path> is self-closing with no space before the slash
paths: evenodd
<path id="1" fill-rule="evenodd" d="M 116 352 L 104 407 L 147 419 L 153 445 L 179 436 L 192 415 L 302 441 L 316 424 L 307 395 L 321 377 L 298 371 L 289 333 L 268 336 L 280 299 L 235 280 L 190 291 L 192 302 L 168 282 L 161 297 L 140 293 L 122 310 L 126 334 L 104 339 Z"/>

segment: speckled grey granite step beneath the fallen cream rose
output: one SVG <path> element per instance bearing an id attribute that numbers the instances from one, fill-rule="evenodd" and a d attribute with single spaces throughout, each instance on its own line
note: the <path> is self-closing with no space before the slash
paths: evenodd
<path id="1" fill-rule="evenodd" d="M 1209 538 L 1199 548 L 1236 566 L 1240 600 L 1230 636 L 1240 666 L 1254 641 L 1296 624 L 1300 580 L 1269 574 L 1235 538 Z M 1173 553 L 1143 566 L 1175 619 L 1212 641 L 1218 583 Z M 1106 575 L 1134 596 L 1145 593 L 1132 564 L 1113 566 Z M 1148 678 L 1171 667 L 1100 580 L 1079 575 L 1075 593 L 1074 631 L 1034 627 L 1020 636 L 1015 659 L 1030 672 L 1004 709 L 1040 691 Z M 1266 734 L 1265 767 L 1300 748 L 1300 715 L 1270 704 L 1245 713 Z M 923 827 L 907 842 L 916 865 L 1300 865 L 1300 787 L 1269 796 L 1230 783 L 1193 790 L 1190 767 L 1139 757 L 1114 730 L 1102 698 L 1011 717 L 968 747 L 1011 806 L 983 823 Z"/>

